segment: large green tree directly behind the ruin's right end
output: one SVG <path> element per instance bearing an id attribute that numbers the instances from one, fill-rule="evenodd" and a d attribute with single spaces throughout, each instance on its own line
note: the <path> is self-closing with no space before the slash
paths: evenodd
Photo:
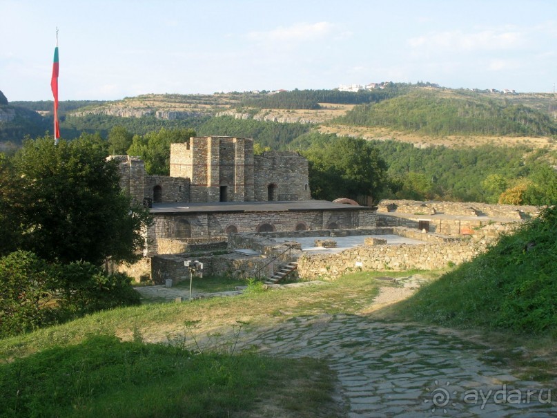
<path id="1" fill-rule="evenodd" d="M 311 146 L 304 151 L 309 160 L 309 182 L 317 199 L 372 196 L 377 201 L 387 182 L 387 164 L 369 142 L 351 137 Z"/>

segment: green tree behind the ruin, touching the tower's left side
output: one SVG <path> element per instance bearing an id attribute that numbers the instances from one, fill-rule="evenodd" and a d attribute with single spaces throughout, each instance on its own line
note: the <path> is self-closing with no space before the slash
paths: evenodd
<path id="1" fill-rule="evenodd" d="M 137 155 L 144 160 L 149 174 L 170 173 L 170 144 L 186 142 L 195 136 L 193 129 L 161 129 L 146 135 L 134 135 L 128 155 Z"/>

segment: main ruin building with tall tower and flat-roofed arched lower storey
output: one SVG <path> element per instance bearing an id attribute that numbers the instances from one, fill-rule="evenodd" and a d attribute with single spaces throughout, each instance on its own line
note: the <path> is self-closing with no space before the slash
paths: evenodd
<path id="1" fill-rule="evenodd" d="M 375 211 L 311 200 L 308 161 L 298 153 L 254 155 L 253 140 L 191 137 L 170 146 L 170 176 L 148 175 L 142 160 L 119 160 L 120 184 L 150 207 L 148 256 L 245 232 L 304 231 L 375 225 Z"/>

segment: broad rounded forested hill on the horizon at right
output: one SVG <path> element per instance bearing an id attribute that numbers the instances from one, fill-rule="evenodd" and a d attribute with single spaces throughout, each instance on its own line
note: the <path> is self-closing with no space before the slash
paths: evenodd
<path id="1" fill-rule="evenodd" d="M 557 124 L 547 113 L 479 93 L 440 89 L 355 106 L 336 122 L 433 136 L 557 134 Z"/>

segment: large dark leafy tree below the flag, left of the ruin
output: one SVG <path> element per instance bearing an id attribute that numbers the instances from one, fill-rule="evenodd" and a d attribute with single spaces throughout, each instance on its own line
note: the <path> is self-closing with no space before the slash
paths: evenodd
<path id="1" fill-rule="evenodd" d="M 3 197 L 7 216 L 19 218 L 12 234 L 21 249 L 59 263 L 99 265 L 108 258 L 133 262 L 141 256 L 148 211 L 130 207 L 119 187 L 117 162 L 106 160 L 105 147 L 94 136 L 58 145 L 51 137 L 23 144 L 12 158 L 12 182 Z"/>

